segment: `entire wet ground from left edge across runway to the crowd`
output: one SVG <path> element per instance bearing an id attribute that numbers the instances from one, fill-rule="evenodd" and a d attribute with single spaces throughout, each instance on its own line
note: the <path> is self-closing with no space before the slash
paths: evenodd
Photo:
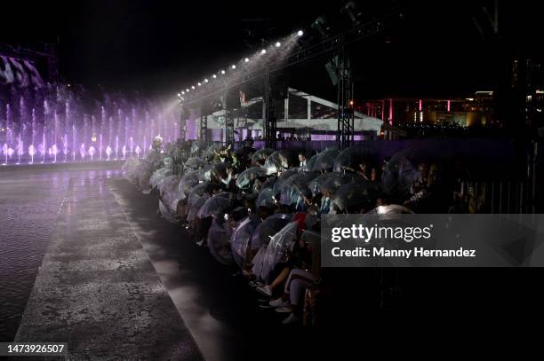
<path id="1" fill-rule="evenodd" d="M 236 269 L 160 219 L 156 197 L 118 168 L 1 176 L 1 267 L 10 280 L 0 280 L 0 301 L 12 305 L 0 314 L 3 341 L 68 341 L 73 359 L 212 361 L 305 343 L 308 332 L 261 310 Z"/>

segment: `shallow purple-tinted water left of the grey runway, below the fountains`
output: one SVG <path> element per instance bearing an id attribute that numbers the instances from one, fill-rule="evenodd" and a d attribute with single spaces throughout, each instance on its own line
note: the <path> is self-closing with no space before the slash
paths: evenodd
<path id="1" fill-rule="evenodd" d="M 73 177 L 108 177 L 119 164 L 0 168 L 0 341 L 12 341 Z"/>

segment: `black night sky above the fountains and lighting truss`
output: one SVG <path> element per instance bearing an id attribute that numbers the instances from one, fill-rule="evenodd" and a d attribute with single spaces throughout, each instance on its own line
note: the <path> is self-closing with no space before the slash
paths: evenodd
<path id="1" fill-rule="evenodd" d="M 66 2 L 3 4 L 0 43 L 59 39 L 60 73 L 66 81 L 156 94 L 175 91 L 225 67 L 254 51 L 261 39 L 274 41 L 298 28 L 306 29 L 321 13 L 342 20 L 340 1 L 62 3 Z M 541 43 L 539 12 L 530 3 L 503 5 L 500 36 L 492 35 L 481 12 L 481 5 L 492 1 L 357 3 L 364 8 L 364 19 L 399 5 L 424 4 L 391 35 L 375 37 L 352 50 L 357 87 L 364 98 L 483 90 L 504 73 L 505 63 L 496 61 L 498 57 L 541 52 L 541 46 L 536 46 Z M 473 17 L 484 27 L 484 37 Z M 343 22 L 348 24 L 348 19 Z M 299 75 L 328 81 L 323 61 L 308 69 Z M 327 93 L 316 90 L 320 91 Z"/>

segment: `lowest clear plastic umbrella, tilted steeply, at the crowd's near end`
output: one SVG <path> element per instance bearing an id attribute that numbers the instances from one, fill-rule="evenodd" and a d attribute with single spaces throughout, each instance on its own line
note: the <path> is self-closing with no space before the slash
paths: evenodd
<path id="1" fill-rule="evenodd" d="M 262 260 L 260 279 L 268 280 L 276 264 L 285 261 L 287 255 L 292 252 L 298 227 L 298 222 L 291 222 L 272 236 Z"/>

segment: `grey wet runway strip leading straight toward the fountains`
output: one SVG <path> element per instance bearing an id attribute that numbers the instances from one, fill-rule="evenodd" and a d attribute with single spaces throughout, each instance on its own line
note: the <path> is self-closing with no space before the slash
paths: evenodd
<path id="1" fill-rule="evenodd" d="M 100 177 L 71 179 L 15 341 L 68 342 L 69 359 L 202 359 Z"/>

